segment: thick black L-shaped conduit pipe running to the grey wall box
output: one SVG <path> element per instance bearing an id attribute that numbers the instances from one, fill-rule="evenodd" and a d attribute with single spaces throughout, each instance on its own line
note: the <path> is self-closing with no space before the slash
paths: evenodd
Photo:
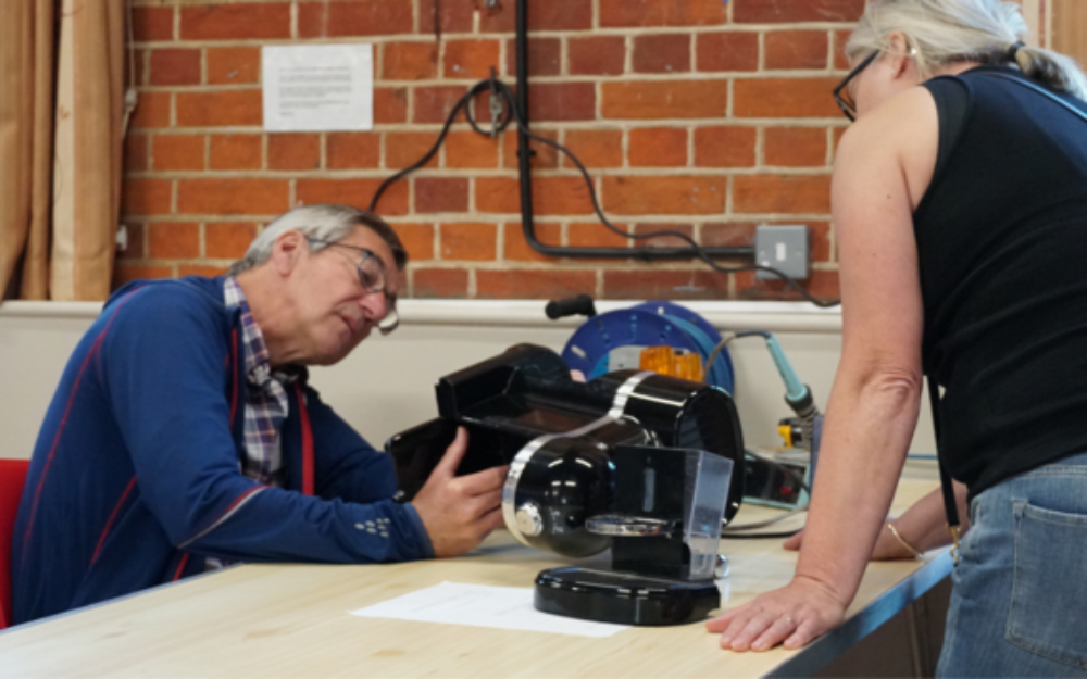
<path id="1" fill-rule="evenodd" d="M 544 0 L 547 1 L 547 0 Z M 640 259 L 652 260 L 689 260 L 689 259 L 754 259 L 754 248 L 739 246 L 734 248 L 573 248 L 569 246 L 548 246 L 536 238 L 533 222 L 533 175 L 532 156 L 535 153 L 528 147 L 528 0 L 516 2 L 516 59 L 517 59 L 517 166 L 521 179 L 521 227 L 528 246 L 553 257 L 602 257 L 602 259 Z"/>

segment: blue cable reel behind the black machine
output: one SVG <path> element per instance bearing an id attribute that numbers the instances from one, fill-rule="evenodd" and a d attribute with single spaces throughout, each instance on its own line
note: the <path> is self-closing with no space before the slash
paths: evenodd
<path id="1" fill-rule="evenodd" d="M 571 368 L 592 379 L 609 372 L 609 359 L 621 347 L 685 349 L 704 364 L 721 334 L 695 312 L 666 301 L 652 301 L 590 317 L 566 342 L 562 357 Z M 734 394 L 733 362 L 722 349 L 705 377 L 710 385 Z"/>

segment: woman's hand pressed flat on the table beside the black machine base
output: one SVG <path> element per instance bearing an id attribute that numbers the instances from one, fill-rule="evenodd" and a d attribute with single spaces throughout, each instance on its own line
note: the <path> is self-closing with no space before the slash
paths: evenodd
<path id="1" fill-rule="evenodd" d="M 705 629 L 720 632 L 721 647 L 730 651 L 767 651 L 779 643 L 792 650 L 838 627 L 845 616 L 845 604 L 824 584 L 794 578 L 707 621 Z"/>

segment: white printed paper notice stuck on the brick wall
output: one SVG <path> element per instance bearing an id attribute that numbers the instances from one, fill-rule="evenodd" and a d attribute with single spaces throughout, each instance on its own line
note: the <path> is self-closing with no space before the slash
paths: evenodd
<path id="1" fill-rule="evenodd" d="M 374 127 L 373 45 L 265 46 L 261 75 L 264 129 Z"/>

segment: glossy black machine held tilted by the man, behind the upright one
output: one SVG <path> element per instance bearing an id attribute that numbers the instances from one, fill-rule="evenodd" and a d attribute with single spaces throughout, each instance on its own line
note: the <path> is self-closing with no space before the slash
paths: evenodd
<path id="1" fill-rule="evenodd" d="M 413 498 L 423 487 L 458 426 L 468 430 L 468 451 L 458 474 L 513 462 L 525 444 L 602 417 L 620 387 L 636 374 L 619 370 L 575 382 L 559 354 L 534 344 L 442 377 L 436 387 L 439 418 L 398 433 L 385 445 L 396 463 L 400 489 Z M 589 443 L 662 445 L 703 450 L 736 464 L 725 519 L 744 498 L 744 440 L 732 398 L 721 389 L 663 375 L 644 379 L 624 407 L 626 418 L 583 437 Z"/>

